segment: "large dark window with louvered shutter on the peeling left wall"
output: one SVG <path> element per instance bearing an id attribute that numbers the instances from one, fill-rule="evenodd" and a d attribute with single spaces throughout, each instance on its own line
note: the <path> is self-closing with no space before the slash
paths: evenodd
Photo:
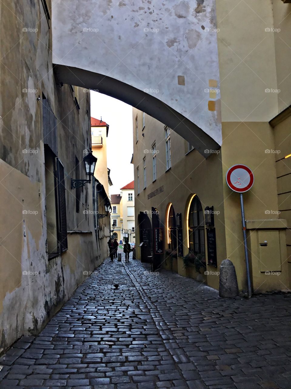
<path id="1" fill-rule="evenodd" d="M 68 249 L 64 166 L 45 145 L 45 209 L 49 259 Z"/>

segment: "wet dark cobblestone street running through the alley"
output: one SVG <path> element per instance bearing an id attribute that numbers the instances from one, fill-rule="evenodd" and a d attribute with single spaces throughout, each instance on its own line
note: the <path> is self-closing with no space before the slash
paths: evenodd
<path id="1" fill-rule="evenodd" d="M 0 359 L 0 388 L 291 387 L 290 294 L 220 299 L 149 271 L 132 254 L 106 259 L 40 335 Z"/>

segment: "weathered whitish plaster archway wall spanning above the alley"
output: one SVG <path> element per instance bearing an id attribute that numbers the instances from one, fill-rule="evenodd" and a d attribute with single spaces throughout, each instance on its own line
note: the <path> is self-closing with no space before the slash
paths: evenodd
<path id="1" fill-rule="evenodd" d="M 214 0 L 53 0 L 52 6 L 53 62 L 61 81 L 75 74 L 78 85 L 120 98 L 163 123 L 179 117 L 172 128 L 201 153 L 211 138 L 221 144 L 219 93 L 210 99 L 205 90 L 219 84 Z M 114 80 L 124 84 L 114 88 Z"/>

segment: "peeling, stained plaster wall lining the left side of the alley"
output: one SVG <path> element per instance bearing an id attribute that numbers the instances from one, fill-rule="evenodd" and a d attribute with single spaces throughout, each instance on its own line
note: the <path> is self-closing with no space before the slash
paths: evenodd
<path id="1" fill-rule="evenodd" d="M 50 4 L 48 2 L 50 9 Z M 80 88 L 78 109 L 52 66 L 51 25 L 42 2 L 0 4 L 0 353 L 22 335 L 37 333 L 104 257 L 97 247 L 92 186 L 76 212 L 75 157 L 91 143 L 90 93 Z M 49 28 L 50 25 L 50 28 Z M 7 33 L 9 31 L 9 33 Z M 58 157 L 64 165 L 68 251 L 48 260 L 43 144 L 43 95 L 57 118 Z M 40 97 L 39 101 L 37 100 Z M 75 94 L 76 96 L 76 94 Z"/>

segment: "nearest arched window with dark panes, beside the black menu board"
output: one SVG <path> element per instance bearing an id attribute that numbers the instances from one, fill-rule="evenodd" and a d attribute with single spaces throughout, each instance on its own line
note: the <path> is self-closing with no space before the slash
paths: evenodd
<path id="1" fill-rule="evenodd" d="M 189 250 L 205 254 L 204 216 L 199 198 L 192 198 L 188 214 Z"/>

